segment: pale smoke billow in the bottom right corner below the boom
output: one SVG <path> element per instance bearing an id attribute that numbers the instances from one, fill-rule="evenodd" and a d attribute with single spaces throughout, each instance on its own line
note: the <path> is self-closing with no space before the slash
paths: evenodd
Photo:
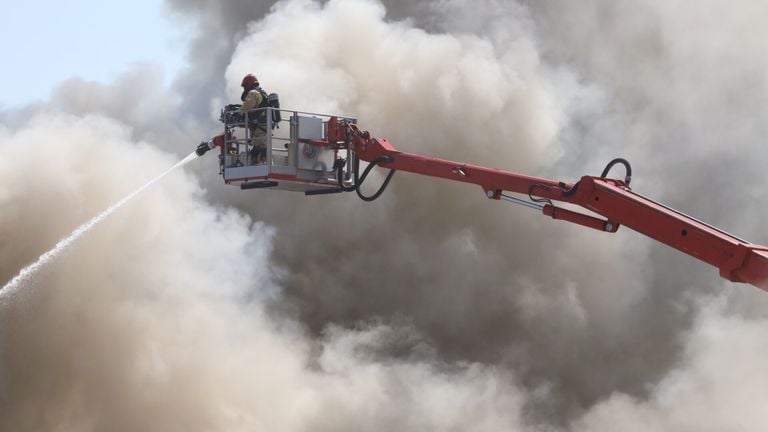
<path id="1" fill-rule="evenodd" d="M 768 352 L 765 319 L 728 314 L 722 302 L 704 308 L 685 335 L 679 365 L 653 387 L 651 397 L 617 393 L 577 422 L 577 431 L 762 430 L 768 373 L 756 359 Z"/>

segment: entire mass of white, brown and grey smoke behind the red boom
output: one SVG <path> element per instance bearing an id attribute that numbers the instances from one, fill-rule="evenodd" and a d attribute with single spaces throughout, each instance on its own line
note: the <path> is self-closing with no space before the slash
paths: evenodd
<path id="1" fill-rule="evenodd" d="M 0 276 L 172 162 L 153 147 L 214 133 L 249 72 L 284 106 L 357 115 L 404 151 L 566 181 L 624 156 L 636 190 L 768 243 L 758 1 L 169 7 L 198 31 L 172 89 L 146 68 L 63 83 L 64 145 L 43 120 L 0 117 Z M 9 161 L 35 148 L 61 163 L 29 185 Z M 200 162 L 207 193 L 169 182 L 2 312 L 4 429 L 766 422 L 764 293 L 639 234 L 405 173 L 371 204 L 246 193 Z"/>

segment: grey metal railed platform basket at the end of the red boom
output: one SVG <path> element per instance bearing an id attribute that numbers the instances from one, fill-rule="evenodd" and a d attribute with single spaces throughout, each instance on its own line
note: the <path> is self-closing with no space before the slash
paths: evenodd
<path id="1" fill-rule="evenodd" d="M 339 160 L 345 162 L 342 184 L 354 181 L 354 154 L 328 137 L 329 122 L 355 123 L 354 118 L 272 107 L 242 113 L 239 105 L 228 105 L 221 121 L 221 174 L 227 184 L 309 195 L 341 192 L 334 166 Z"/>

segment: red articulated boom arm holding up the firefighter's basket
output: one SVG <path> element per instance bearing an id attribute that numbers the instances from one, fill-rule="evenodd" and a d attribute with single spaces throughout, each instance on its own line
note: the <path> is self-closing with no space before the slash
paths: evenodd
<path id="1" fill-rule="evenodd" d="M 621 180 L 585 176 L 576 184 L 564 184 L 399 152 L 386 140 L 370 138 L 368 132 L 355 125 L 347 128 L 353 150 L 361 160 L 377 161 L 389 169 L 480 185 L 492 199 L 500 199 L 504 191 L 527 194 L 547 202 L 542 207 L 543 214 L 601 231 L 615 232 L 622 224 L 717 267 L 725 279 L 768 291 L 768 247 L 751 244 L 638 195 Z M 576 204 L 606 219 L 558 208 L 551 201 Z"/>

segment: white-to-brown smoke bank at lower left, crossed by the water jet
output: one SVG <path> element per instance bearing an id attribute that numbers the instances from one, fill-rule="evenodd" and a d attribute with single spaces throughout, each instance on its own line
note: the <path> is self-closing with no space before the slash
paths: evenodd
<path id="1" fill-rule="evenodd" d="M 172 160 L 129 133 L 105 118 L 49 112 L 4 134 L 4 161 L 45 155 L 55 163 L 40 163 L 55 169 L 37 172 L 30 189 L 28 164 L 2 165 L 2 208 L 13 209 L 2 213 L 3 263 L 38 253 Z M 379 361 L 375 350 L 393 338 L 383 325 L 331 329 L 313 342 L 291 322 L 267 319 L 273 235 L 206 204 L 180 174 L 94 228 L 3 305 L 3 429 L 519 425 L 524 399 L 493 367 L 439 366 L 428 353 Z M 412 331 L 402 328 L 401 336 Z"/>

